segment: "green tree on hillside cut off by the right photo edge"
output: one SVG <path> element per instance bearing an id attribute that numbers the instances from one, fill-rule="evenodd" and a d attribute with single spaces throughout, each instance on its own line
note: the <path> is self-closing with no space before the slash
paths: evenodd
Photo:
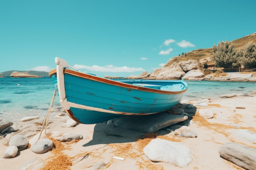
<path id="1" fill-rule="evenodd" d="M 256 44 L 247 42 L 243 51 L 243 56 L 240 59 L 240 64 L 247 68 L 256 67 Z"/>

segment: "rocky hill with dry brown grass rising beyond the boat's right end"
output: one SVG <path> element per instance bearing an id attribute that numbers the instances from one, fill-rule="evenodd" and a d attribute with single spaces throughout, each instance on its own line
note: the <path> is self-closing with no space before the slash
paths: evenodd
<path id="1" fill-rule="evenodd" d="M 243 38 L 230 41 L 233 43 L 236 49 L 243 49 L 247 42 L 256 43 L 256 33 L 247 35 Z M 218 44 L 216 44 L 218 45 Z M 227 74 L 222 74 L 222 77 L 214 78 L 215 75 L 206 76 L 204 72 L 204 64 L 214 64 L 213 59 L 213 48 L 209 49 L 197 49 L 189 53 L 173 57 L 168 60 L 168 62 L 162 67 L 158 68 L 153 73 L 144 72 L 139 76 L 131 75 L 129 77 L 124 77 L 126 79 L 185 79 L 185 80 L 216 80 L 222 81 L 222 79 L 229 81 L 250 81 L 256 82 L 256 77 L 254 73 L 245 75 L 238 75 L 234 78 L 227 76 Z M 240 79 L 243 77 L 242 79 Z M 111 77 L 107 77 L 111 78 Z M 239 79 L 237 79 L 239 78 Z"/>

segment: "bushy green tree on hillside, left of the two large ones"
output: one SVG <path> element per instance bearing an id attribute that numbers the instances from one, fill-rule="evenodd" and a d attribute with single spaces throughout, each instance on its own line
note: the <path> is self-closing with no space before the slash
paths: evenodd
<path id="1" fill-rule="evenodd" d="M 225 42 L 219 42 L 218 46 L 213 44 L 213 61 L 217 67 L 238 67 L 239 63 L 236 57 L 234 44 L 229 44 L 227 40 Z"/>

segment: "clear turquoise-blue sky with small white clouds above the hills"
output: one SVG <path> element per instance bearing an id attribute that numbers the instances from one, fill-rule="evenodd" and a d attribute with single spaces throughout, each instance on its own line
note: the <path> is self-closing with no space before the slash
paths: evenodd
<path id="1" fill-rule="evenodd" d="M 0 73 L 61 57 L 100 77 L 152 73 L 168 59 L 256 32 L 256 1 L 0 0 Z"/>

